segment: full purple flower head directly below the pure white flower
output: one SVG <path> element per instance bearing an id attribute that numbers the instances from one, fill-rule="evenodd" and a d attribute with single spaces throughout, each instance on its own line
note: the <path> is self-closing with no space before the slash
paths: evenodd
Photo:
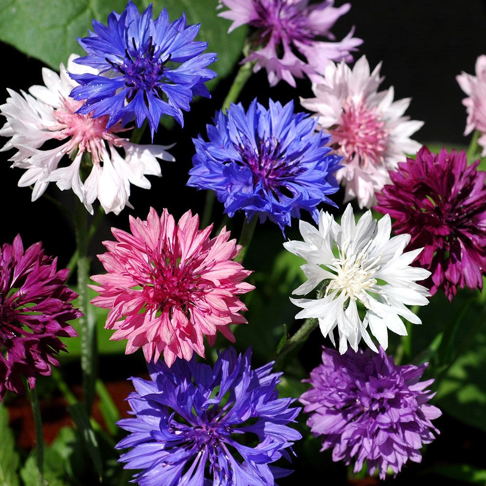
<path id="1" fill-rule="evenodd" d="M 420 462 L 420 449 L 439 431 L 431 420 L 440 417 L 427 402 L 434 380 L 420 382 L 427 364 L 398 366 L 380 348 L 340 355 L 323 348 L 322 364 L 311 372 L 311 388 L 300 397 L 312 434 L 322 436 L 322 451 L 333 448 L 332 459 L 354 461 L 359 472 L 384 479 L 391 468 L 397 474 L 407 460 Z"/>

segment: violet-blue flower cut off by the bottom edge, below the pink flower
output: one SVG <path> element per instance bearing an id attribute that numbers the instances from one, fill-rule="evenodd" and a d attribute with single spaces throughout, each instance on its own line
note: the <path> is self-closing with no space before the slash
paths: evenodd
<path id="1" fill-rule="evenodd" d="M 117 448 L 133 448 L 120 461 L 141 469 L 134 481 L 274 486 L 291 472 L 270 464 L 290 459 L 286 449 L 302 437 L 287 425 L 300 408 L 278 398 L 281 373 L 271 372 L 273 363 L 252 369 L 250 361 L 251 349 L 237 355 L 230 347 L 214 367 L 195 358 L 170 368 L 158 361 L 149 364 L 151 381 L 132 378 L 136 391 L 128 401 L 136 417 L 118 422 L 131 434 Z"/>

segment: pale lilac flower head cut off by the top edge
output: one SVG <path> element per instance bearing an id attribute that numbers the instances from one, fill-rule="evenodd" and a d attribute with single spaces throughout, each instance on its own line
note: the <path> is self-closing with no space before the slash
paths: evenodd
<path id="1" fill-rule="evenodd" d="M 229 10 L 219 15 L 233 20 L 229 32 L 243 24 L 256 30 L 243 62 L 255 62 L 254 71 L 265 68 L 271 86 L 283 79 L 295 87 L 294 77 L 307 75 L 313 81 L 329 60 L 350 62 L 350 52 L 363 43 L 352 36 L 354 29 L 340 42 L 320 40 L 335 39 L 330 29 L 351 8 L 349 3 L 339 8 L 333 4 L 333 0 L 312 5 L 309 0 L 220 0 L 220 7 Z"/>

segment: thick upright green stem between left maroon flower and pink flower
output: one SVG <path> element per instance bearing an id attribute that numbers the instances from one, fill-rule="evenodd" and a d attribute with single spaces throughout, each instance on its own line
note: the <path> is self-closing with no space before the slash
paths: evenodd
<path id="1" fill-rule="evenodd" d="M 83 400 L 88 416 L 91 413 L 95 396 L 95 380 L 97 372 L 98 343 L 96 341 L 96 321 L 90 318 L 88 309 L 89 259 L 88 259 L 88 231 L 87 211 L 78 202 L 76 211 L 76 246 L 78 250 L 78 292 L 79 308 L 84 313 L 79 319 L 81 330 L 81 368 L 83 370 Z"/>

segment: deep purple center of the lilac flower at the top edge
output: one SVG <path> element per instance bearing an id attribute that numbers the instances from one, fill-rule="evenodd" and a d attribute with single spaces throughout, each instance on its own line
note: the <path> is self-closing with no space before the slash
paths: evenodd
<path id="1" fill-rule="evenodd" d="M 258 17 L 251 24 L 261 29 L 260 37 L 273 36 L 276 42 L 290 43 L 294 40 L 309 42 L 312 33 L 307 18 L 292 0 L 256 0 Z"/>

